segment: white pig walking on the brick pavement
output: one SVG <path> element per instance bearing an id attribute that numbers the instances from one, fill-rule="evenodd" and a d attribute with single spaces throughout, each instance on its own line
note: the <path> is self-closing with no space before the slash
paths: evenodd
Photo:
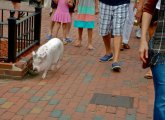
<path id="1" fill-rule="evenodd" d="M 63 42 L 58 38 L 52 38 L 40 46 L 37 52 L 32 52 L 33 71 L 36 73 L 43 72 L 42 78 L 45 79 L 48 70 L 54 70 L 58 67 L 58 62 L 62 59 L 63 51 Z"/>

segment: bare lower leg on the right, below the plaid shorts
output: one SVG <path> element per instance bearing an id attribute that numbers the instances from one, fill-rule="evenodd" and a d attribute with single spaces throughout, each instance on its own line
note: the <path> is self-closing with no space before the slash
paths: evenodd
<path id="1" fill-rule="evenodd" d="M 118 62 L 122 37 L 114 36 L 114 58 L 113 62 Z"/>

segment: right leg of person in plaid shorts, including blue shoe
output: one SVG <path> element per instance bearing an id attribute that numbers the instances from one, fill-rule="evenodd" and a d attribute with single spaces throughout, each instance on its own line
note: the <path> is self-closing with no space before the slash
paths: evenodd
<path id="1" fill-rule="evenodd" d="M 114 6 L 113 15 L 113 28 L 112 34 L 114 35 L 114 58 L 112 63 L 112 70 L 120 71 L 121 66 L 119 63 L 120 46 L 122 42 L 123 27 L 127 17 L 129 4 Z"/>

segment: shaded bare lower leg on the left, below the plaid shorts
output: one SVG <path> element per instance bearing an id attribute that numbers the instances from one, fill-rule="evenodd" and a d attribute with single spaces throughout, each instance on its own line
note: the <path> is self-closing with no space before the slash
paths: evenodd
<path id="1" fill-rule="evenodd" d="M 109 55 L 112 53 L 111 50 L 111 35 L 106 35 L 103 36 L 103 41 L 104 41 L 104 45 L 105 45 L 105 54 Z"/>

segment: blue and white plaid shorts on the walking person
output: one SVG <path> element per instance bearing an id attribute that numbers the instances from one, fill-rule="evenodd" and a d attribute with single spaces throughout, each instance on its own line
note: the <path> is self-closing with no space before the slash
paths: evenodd
<path id="1" fill-rule="evenodd" d="M 100 2 L 99 32 L 101 36 L 106 36 L 110 33 L 117 36 L 122 35 L 128 7 L 129 4 L 110 6 Z"/>

